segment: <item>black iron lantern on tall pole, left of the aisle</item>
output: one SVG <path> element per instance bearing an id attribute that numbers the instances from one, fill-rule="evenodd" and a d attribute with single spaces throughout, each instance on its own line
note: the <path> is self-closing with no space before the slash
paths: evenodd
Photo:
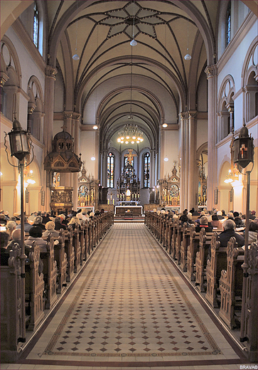
<path id="1" fill-rule="evenodd" d="M 6 132 L 5 132 L 6 134 Z M 11 149 L 11 157 L 16 157 L 18 159 L 18 166 L 14 166 L 14 164 L 11 164 L 9 161 L 9 154 L 7 152 L 7 146 L 6 146 L 6 136 L 9 135 L 9 142 L 10 142 L 10 149 Z M 31 148 L 33 148 L 31 143 L 31 136 L 29 132 L 25 131 L 21 127 L 21 123 L 18 122 L 18 120 L 14 120 L 13 122 L 13 128 L 11 129 L 11 132 L 6 134 L 4 137 L 4 146 L 6 147 L 6 154 L 7 154 L 7 160 L 11 166 L 18 167 L 20 174 L 21 174 L 21 319 L 22 319 L 22 337 L 18 339 L 18 342 L 26 342 L 26 324 L 25 324 L 25 260 L 26 260 L 26 254 L 25 254 L 25 248 L 24 248 L 24 159 L 26 156 L 31 154 Z M 33 161 L 34 155 L 31 159 L 31 162 Z M 26 164 L 28 166 L 31 164 L 29 162 Z"/>

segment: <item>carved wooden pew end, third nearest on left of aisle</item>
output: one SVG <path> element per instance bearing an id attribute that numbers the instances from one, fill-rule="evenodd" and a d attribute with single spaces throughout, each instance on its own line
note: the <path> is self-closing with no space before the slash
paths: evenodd
<path id="1" fill-rule="evenodd" d="M 41 260 L 43 262 L 43 275 L 45 282 L 45 309 L 50 309 L 58 299 L 56 295 L 58 267 L 55 261 L 55 248 L 53 236 L 48 236 L 46 252 L 41 251 Z"/>

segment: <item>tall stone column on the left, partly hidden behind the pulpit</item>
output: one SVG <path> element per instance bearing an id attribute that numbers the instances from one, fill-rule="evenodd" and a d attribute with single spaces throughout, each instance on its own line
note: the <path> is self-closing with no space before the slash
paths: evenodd
<path id="1" fill-rule="evenodd" d="M 54 122 L 54 100 L 55 100 L 55 75 L 58 70 L 47 65 L 45 68 L 45 120 L 44 120 L 44 132 L 43 142 L 45 144 L 45 156 L 52 151 L 52 139 L 53 139 L 53 122 Z M 50 174 L 45 174 L 50 176 Z M 50 184 L 50 179 L 44 179 L 44 184 Z M 51 194 L 50 188 L 45 188 L 45 207 L 50 207 Z"/>

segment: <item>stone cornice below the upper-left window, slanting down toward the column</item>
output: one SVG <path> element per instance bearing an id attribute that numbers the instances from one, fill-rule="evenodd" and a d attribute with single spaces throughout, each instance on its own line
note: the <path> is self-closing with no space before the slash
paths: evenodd
<path id="1" fill-rule="evenodd" d="M 31 58 L 33 58 L 34 62 L 38 65 L 38 68 L 40 68 L 42 72 L 45 73 L 46 65 L 45 60 L 43 60 L 41 53 L 34 45 L 33 41 L 31 40 L 31 37 L 28 35 L 28 32 L 24 28 L 21 20 L 17 18 L 16 21 L 13 23 L 12 27 L 14 28 L 14 31 L 17 33 L 18 38 L 21 39 L 21 43 L 23 43 L 23 46 L 26 47 L 28 53 L 31 55 Z"/>

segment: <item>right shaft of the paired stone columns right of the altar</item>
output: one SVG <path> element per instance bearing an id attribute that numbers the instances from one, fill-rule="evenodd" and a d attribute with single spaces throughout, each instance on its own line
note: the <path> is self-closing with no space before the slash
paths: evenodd
<path id="1" fill-rule="evenodd" d="M 196 140 L 195 140 L 195 115 L 196 110 L 190 110 L 188 112 L 188 211 L 192 207 L 197 207 L 195 204 L 195 171 L 196 171 Z"/>

